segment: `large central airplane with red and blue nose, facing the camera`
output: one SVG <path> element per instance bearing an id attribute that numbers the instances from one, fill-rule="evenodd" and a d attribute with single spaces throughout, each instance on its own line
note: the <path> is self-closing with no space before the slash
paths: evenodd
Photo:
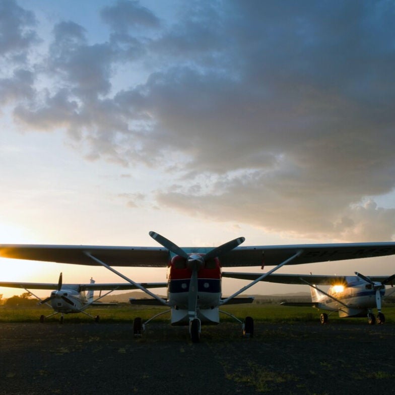
<path id="1" fill-rule="evenodd" d="M 219 323 L 220 312 L 231 315 L 221 311 L 221 306 L 252 302 L 252 298 L 236 296 L 284 265 L 395 254 L 395 242 L 240 247 L 245 239 L 239 237 L 216 248 L 180 248 L 158 233 L 149 234 L 161 247 L 0 244 L 0 256 L 65 264 L 101 265 L 150 295 L 154 300 L 149 303 L 169 307 L 171 324 L 188 325 L 190 338 L 196 343 L 200 339 L 202 323 Z M 265 265 L 274 268 L 262 273 L 232 295 L 225 298 L 221 296 L 222 267 L 259 266 L 263 269 Z M 114 267 L 167 267 L 167 298 L 152 293 Z M 135 301 L 131 300 L 131 303 Z M 237 317 L 233 318 L 243 323 L 244 335 L 253 335 L 251 317 L 246 317 L 244 322 Z M 144 331 L 145 324 L 142 324 L 141 319 L 135 319 L 135 335 Z"/>

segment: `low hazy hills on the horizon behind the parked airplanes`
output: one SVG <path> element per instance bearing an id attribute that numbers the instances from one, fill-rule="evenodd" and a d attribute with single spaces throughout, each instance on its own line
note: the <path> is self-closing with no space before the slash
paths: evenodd
<path id="1" fill-rule="evenodd" d="M 226 296 L 226 295 L 225 295 Z M 297 292 L 290 294 L 275 294 L 275 295 L 242 295 L 242 296 L 254 296 L 254 303 L 280 303 L 282 301 L 290 302 L 310 302 L 309 292 Z M 161 295 L 161 297 L 165 297 Z M 117 303 L 128 303 L 130 298 L 134 299 L 147 299 L 150 298 L 145 292 L 133 291 L 126 292 L 116 295 L 108 295 L 100 299 L 101 302 L 117 302 Z"/>

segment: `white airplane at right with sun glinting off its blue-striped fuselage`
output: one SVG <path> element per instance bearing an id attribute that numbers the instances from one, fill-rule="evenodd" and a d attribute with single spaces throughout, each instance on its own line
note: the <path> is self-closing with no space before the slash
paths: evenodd
<path id="1" fill-rule="evenodd" d="M 244 280 L 255 280 L 259 273 L 222 273 L 223 277 Z M 332 312 L 337 311 L 339 317 L 367 317 L 369 324 L 384 323 L 385 316 L 381 312 L 382 298 L 385 295 L 385 285 L 391 285 L 395 278 L 392 276 L 369 276 L 355 272 L 356 276 L 322 276 L 300 274 L 272 274 L 261 281 L 281 284 L 308 285 L 311 291 L 311 302 L 282 302 L 283 306 L 312 306 L 317 309 Z M 317 285 L 330 285 L 327 292 Z M 389 294 L 391 295 L 392 292 Z M 389 296 L 387 295 L 387 296 Z M 377 308 L 377 316 L 373 309 Z M 328 322 L 328 314 L 320 315 L 321 323 Z"/>

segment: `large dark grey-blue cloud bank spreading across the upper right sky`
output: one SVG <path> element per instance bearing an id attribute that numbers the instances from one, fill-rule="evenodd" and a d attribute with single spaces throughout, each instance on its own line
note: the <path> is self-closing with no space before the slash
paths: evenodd
<path id="1" fill-rule="evenodd" d="M 30 47 L 34 15 L 5 4 L 19 15 L 19 48 Z M 16 119 L 64 128 L 89 160 L 160 169 L 171 186 L 158 203 L 189 215 L 311 238 L 393 237 L 393 209 L 371 198 L 395 187 L 395 7 L 182 7 L 164 23 L 144 2 L 109 5 L 105 42 L 56 23 L 41 62 L 25 64 L 45 89 L 20 72 L 0 80 L 7 103 L 30 100 Z M 134 83 L 114 88 L 125 64 Z"/>

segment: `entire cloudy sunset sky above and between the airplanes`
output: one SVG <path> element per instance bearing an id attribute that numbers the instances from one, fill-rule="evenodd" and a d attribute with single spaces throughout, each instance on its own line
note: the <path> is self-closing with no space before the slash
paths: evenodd
<path id="1" fill-rule="evenodd" d="M 0 243 L 394 240 L 394 17 L 390 1 L 3 0 Z M 390 275 L 392 262 L 281 272 Z M 60 271 L 120 281 L 2 259 L 4 281 Z"/>

